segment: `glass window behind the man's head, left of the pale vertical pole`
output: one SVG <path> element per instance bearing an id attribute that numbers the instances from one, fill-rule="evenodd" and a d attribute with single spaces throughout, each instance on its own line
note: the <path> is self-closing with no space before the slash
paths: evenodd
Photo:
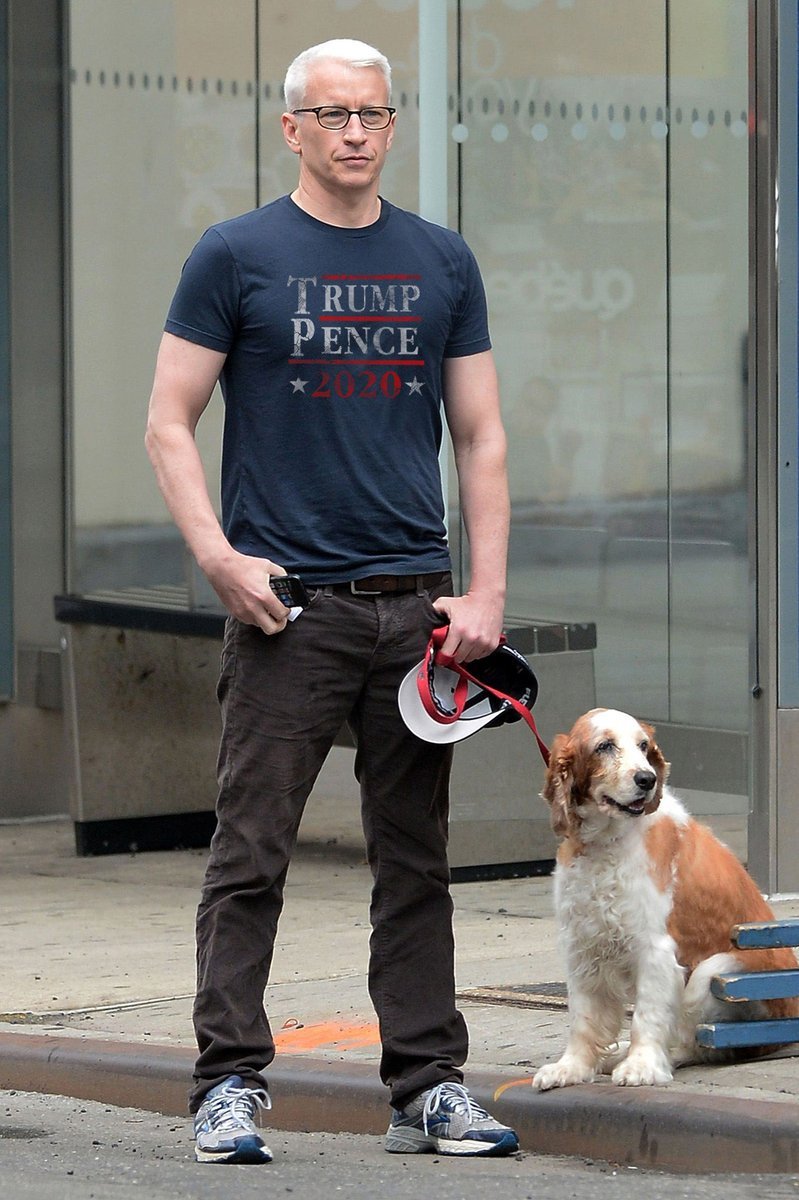
<path id="1" fill-rule="evenodd" d="M 208 226 L 295 186 L 280 125 L 286 68 L 306 46 L 350 30 L 391 59 L 400 133 L 385 192 L 415 208 L 415 0 L 72 0 L 73 592 L 215 601 L 143 445 L 163 319 Z M 217 396 L 198 427 L 215 500 L 221 427 Z"/>

